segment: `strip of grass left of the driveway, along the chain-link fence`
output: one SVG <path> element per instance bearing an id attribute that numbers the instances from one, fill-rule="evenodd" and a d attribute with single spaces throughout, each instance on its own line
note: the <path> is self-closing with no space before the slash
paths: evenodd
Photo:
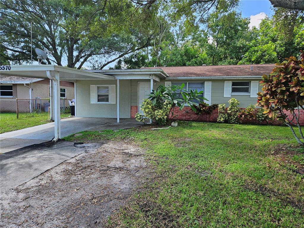
<path id="1" fill-rule="evenodd" d="M 61 118 L 68 117 L 70 114 L 61 114 Z M 20 130 L 27 127 L 33 127 L 44 123 L 49 123 L 49 115 L 47 112 L 40 114 L 20 114 L 17 119 L 16 113 L 2 112 L 0 113 L 0 133 Z"/>

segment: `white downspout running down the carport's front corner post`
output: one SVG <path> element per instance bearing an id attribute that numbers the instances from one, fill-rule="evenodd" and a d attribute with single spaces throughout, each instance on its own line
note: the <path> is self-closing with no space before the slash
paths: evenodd
<path id="1" fill-rule="evenodd" d="M 60 132 L 60 90 L 59 90 L 59 72 L 55 71 L 55 77 L 47 71 L 47 77 L 54 82 L 54 124 L 55 124 L 55 136 L 53 142 L 56 142 L 61 137 Z"/>

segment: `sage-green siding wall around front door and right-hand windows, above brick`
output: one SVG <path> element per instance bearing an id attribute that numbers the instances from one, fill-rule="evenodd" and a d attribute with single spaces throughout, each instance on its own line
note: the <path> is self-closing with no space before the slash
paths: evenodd
<path id="1" fill-rule="evenodd" d="M 138 105 L 138 82 L 149 82 L 150 80 L 131 80 L 131 105 Z M 204 80 L 170 80 L 171 82 L 202 82 Z M 256 104 L 257 98 L 251 98 L 250 95 L 231 95 L 231 97 L 224 97 L 224 81 L 225 80 L 208 80 L 211 81 L 211 104 L 226 104 L 231 98 L 236 98 L 240 101 L 240 107 L 246 108 L 248 105 Z M 226 80 L 228 81 L 228 80 Z M 231 80 L 231 81 L 259 81 L 258 79 L 254 80 Z M 158 85 L 164 85 L 165 80 L 156 82 L 154 89 Z M 259 85 L 259 92 L 262 91 L 262 87 Z"/>

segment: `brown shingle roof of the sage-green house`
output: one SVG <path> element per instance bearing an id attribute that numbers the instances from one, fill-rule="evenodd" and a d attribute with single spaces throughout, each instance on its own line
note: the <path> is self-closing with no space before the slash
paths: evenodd
<path id="1" fill-rule="evenodd" d="M 252 71 L 250 69 L 252 67 Z M 185 67 L 144 67 L 161 68 L 169 77 L 216 77 L 216 76 L 262 76 L 269 74 L 275 64 L 185 66 Z"/>

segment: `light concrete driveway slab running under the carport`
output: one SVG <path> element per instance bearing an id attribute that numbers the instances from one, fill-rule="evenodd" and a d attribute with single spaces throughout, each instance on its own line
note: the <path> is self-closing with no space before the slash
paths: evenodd
<path id="1" fill-rule="evenodd" d="M 116 118 L 87 118 L 73 117 L 61 119 L 61 137 L 68 136 L 79 131 L 101 131 L 106 129 L 126 129 L 140 126 L 141 123 L 135 119 Z M 54 122 L 33 126 L 21 130 L 0 134 L 0 152 L 6 153 L 22 147 L 43 143 L 52 140 L 54 137 Z"/>

